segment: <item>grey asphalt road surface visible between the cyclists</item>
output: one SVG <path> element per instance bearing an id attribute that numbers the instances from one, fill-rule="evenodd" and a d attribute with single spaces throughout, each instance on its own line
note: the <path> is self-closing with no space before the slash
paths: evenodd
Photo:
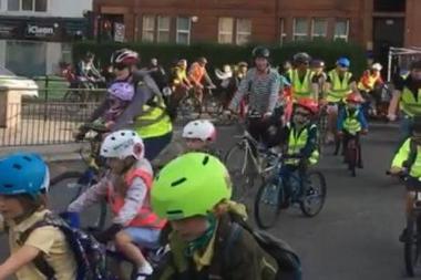
<path id="1" fill-rule="evenodd" d="M 219 129 L 218 146 L 233 145 L 236 128 Z M 404 278 L 403 249 L 398 236 L 403 227 L 404 188 L 388 178 L 396 148 L 397 128 L 372 126 L 363 138 L 364 169 L 356 178 L 347 173 L 339 157 L 327 148 L 319 166 L 327 177 L 328 196 L 324 210 L 305 218 L 299 209 L 281 214 L 270 231 L 287 240 L 301 256 L 305 279 L 311 280 L 398 280 Z M 53 175 L 83 169 L 80 163 L 58 163 Z M 54 191 L 53 205 L 69 195 Z M 90 215 L 85 218 L 89 220 Z M 8 256 L 6 239 L 0 240 L 0 260 Z"/>

